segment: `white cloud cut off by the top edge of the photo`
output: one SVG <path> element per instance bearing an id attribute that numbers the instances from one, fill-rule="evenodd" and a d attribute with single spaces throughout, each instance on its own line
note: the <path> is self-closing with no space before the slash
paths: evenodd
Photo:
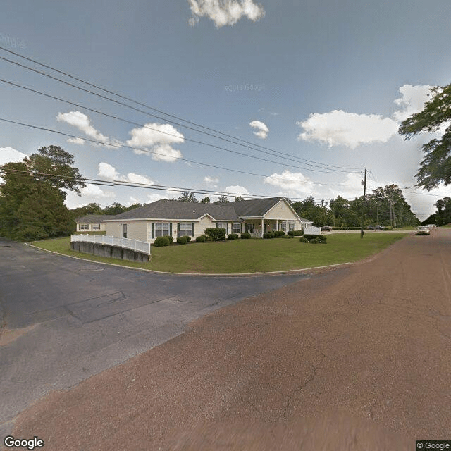
<path id="1" fill-rule="evenodd" d="M 192 17 L 188 23 L 192 27 L 201 17 L 214 21 L 216 28 L 224 25 L 234 25 L 242 17 L 256 22 L 265 15 L 263 6 L 255 4 L 254 0 L 188 0 Z"/>

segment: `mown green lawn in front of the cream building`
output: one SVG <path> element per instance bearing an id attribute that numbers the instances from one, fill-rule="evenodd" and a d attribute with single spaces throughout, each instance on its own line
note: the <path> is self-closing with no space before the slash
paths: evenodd
<path id="1" fill-rule="evenodd" d="M 232 240 L 226 242 L 191 242 L 187 245 L 153 247 L 152 261 L 139 263 L 106 259 L 70 250 L 70 237 L 33 242 L 42 249 L 83 257 L 92 261 L 121 264 L 135 268 L 172 273 L 255 273 L 314 268 L 347 263 L 380 252 L 405 233 L 365 235 L 342 233 L 329 235 L 326 245 L 301 243 L 297 237 L 273 240 Z"/>

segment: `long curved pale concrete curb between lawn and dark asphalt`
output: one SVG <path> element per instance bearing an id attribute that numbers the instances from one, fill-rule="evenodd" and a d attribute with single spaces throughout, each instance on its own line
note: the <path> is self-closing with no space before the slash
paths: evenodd
<path id="1" fill-rule="evenodd" d="M 49 252 L 50 254 L 61 255 L 62 257 L 68 257 L 70 259 L 89 261 L 89 263 L 96 263 L 107 266 L 116 266 L 117 268 L 125 268 L 132 269 L 134 271 L 142 271 L 144 273 L 154 273 L 154 274 L 164 274 L 166 276 L 196 276 L 196 277 L 261 277 L 261 276 L 282 276 L 282 275 L 293 275 L 306 273 L 307 271 L 318 271 L 321 269 L 333 269 L 339 266 L 350 266 L 357 262 L 347 262 L 347 263 L 338 263 L 335 265 L 327 265 L 327 266 L 316 266 L 314 268 L 304 268 L 304 269 L 286 269 L 285 271 L 271 271 L 268 273 L 239 273 L 239 274 L 228 274 L 228 273 L 217 273 L 217 274 L 202 274 L 202 273 L 168 273 L 166 271 L 155 271 L 153 269 L 144 269 L 144 268 L 133 268 L 132 266 L 123 266 L 114 263 L 105 263 L 104 261 L 94 261 L 89 259 L 83 259 L 82 257 L 73 257 L 73 255 L 61 254 L 60 252 L 49 251 L 47 249 L 42 249 L 42 247 L 37 247 L 30 243 L 24 243 L 26 246 L 34 247 L 39 251 Z"/>

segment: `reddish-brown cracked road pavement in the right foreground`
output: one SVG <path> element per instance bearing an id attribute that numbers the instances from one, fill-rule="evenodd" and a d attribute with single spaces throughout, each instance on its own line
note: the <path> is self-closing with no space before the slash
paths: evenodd
<path id="1" fill-rule="evenodd" d="M 245 299 L 74 388 L 46 450 L 411 450 L 450 440 L 451 230 Z"/>

